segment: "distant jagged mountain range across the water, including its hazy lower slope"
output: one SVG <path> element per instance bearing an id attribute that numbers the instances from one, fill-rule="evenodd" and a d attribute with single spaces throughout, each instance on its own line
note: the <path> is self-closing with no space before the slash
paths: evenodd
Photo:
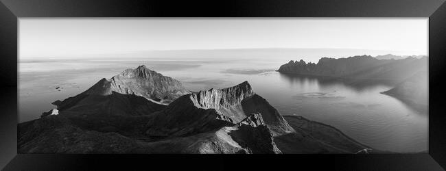
<path id="1" fill-rule="evenodd" d="M 335 77 L 349 81 L 387 81 L 394 83 L 395 88 L 382 94 L 395 96 L 410 105 L 416 105 L 417 108 L 425 108 L 429 94 L 427 66 L 427 56 L 401 57 L 388 54 L 339 59 L 322 57 L 317 64 L 306 63 L 303 60 L 290 61 L 280 66 L 277 71 L 292 75 Z"/>

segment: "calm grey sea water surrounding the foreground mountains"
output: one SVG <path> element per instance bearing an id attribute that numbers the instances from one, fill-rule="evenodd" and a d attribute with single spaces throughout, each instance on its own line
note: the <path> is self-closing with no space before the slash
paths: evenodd
<path id="1" fill-rule="evenodd" d="M 231 55 L 231 54 L 225 54 Z M 282 115 L 329 124 L 353 139 L 399 153 L 427 150 L 427 109 L 414 109 L 380 94 L 394 83 L 284 75 L 289 60 L 239 57 L 207 59 L 45 60 L 19 64 L 19 122 L 54 108 L 51 102 L 75 96 L 102 78 L 144 64 L 183 82 L 191 91 L 226 88 L 248 81 Z M 317 62 L 317 61 L 316 61 Z"/>

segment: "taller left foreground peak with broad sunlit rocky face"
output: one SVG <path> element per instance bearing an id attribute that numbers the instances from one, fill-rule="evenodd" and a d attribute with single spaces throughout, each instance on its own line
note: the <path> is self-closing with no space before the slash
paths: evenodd
<path id="1" fill-rule="evenodd" d="M 91 86 L 91 88 L 78 94 L 78 96 L 67 98 L 64 101 L 58 101 L 55 104 L 58 106 L 58 109 L 59 107 L 61 109 L 67 109 L 78 105 L 78 103 L 82 105 L 84 103 L 82 101 L 87 101 L 85 99 L 89 98 L 96 98 L 95 96 L 103 96 L 106 99 L 124 94 L 133 95 L 131 96 L 132 98 L 141 96 L 158 105 L 167 105 L 176 98 L 189 93 L 180 81 L 163 76 L 141 65 L 138 68 L 126 69 L 111 79 L 102 78 Z M 112 96 L 113 94 L 115 96 Z M 102 101 L 92 100 L 89 103 L 102 104 Z"/>

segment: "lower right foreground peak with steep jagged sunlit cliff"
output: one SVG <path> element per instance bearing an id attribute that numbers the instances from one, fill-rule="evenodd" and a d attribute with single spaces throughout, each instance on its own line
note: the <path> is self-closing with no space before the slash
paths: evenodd
<path id="1" fill-rule="evenodd" d="M 211 89 L 178 98 L 157 112 L 148 134 L 189 135 L 241 122 L 260 114 L 274 135 L 294 131 L 265 99 L 255 94 L 248 82 L 231 88 Z"/>

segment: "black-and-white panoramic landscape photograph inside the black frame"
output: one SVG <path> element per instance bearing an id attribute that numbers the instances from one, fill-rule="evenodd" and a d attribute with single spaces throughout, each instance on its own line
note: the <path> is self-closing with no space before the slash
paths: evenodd
<path id="1" fill-rule="evenodd" d="M 19 18 L 20 154 L 428 150 L 428 18 Z"/>

